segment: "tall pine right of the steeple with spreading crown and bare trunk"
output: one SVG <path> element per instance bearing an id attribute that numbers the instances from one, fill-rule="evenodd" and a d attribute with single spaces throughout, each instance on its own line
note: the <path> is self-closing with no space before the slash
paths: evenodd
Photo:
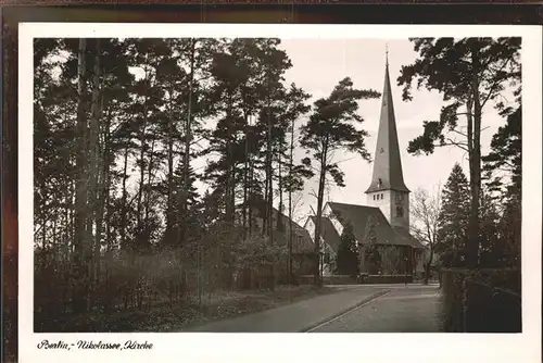
<path id="1" fill-rule="evenodd" d="M 417 87 L 438 90 L 446 104 L 439 121 L 425 121 L 424 134 L 409 142 L 408 152 L 432 153 L 435 147 L 454 146 L 468 153 L 470 209 L 467 264 L 475 268 L 479 260 L 479 202 L 481 192 L 481 130 L 483 109 L 494 102 L 504 110 L 498 97 L 507 86 L 520 84 L 520 38 L 416 38 L 412 39 L 419 57 L 402 67 L 399 84 L 404 100 L 411 100 L 414 80 Z M 514 95 L 520 102 L 520 87 Z M 490 101 L 490 102 L 489 102 Z M 459 122 L 459 116 L 466 123 Z"/>

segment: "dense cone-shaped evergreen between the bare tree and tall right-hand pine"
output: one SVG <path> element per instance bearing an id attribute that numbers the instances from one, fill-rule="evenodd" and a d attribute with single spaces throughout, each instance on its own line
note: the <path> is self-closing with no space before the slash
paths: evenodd
<path id="1" fill-rule="evenodd" d="M 447 253 L 453 253 L 465 249 L 469 202 L 468 180 L 456 163 L 441 193 L 437 251 L 449 250 Z"/>

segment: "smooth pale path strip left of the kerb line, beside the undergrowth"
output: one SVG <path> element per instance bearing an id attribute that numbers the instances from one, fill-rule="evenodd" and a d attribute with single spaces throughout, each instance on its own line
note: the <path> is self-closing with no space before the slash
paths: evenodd
<path id="1" fill-rule="evenodd" d="M 210 323 L 182 331 L 295 333 L 307 330 L 390 289 L 383 286 L 340 286 L 338 292 L 260 313 Z"/>

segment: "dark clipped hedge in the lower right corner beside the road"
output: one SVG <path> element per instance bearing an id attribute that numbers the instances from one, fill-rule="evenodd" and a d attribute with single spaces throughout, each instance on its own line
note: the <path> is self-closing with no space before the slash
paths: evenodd
<path id="1" fill-rule="evenodd" d="M 442 271 L 442 323 L 447 333 L 521 333 L 517 270 Z"/>

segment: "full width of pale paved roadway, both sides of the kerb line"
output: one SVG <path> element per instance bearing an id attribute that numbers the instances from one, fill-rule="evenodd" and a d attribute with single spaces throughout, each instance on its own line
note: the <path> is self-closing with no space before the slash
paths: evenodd
<path id="1" fill-rule="evenodd" d="M 331 287 L 331 286 L 330 286 Z M 337 292 L 181 331 L 437 333 L 438 287 L 334 286 Z"/>

